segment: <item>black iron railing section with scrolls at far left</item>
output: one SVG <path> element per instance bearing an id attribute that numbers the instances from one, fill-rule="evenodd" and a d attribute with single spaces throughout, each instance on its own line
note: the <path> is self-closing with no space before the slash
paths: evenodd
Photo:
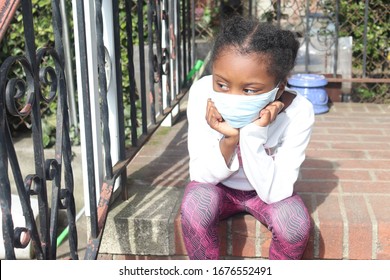
<path id="1" fill-rule="evenodd" d="M 19 1 L 8 1 L 8 4 L 19 5 Z M 5 11 L 7 6 L 2 8 Z M 31 1 L 20 1 L 20 8 L 23 14 L 25 54 L 8 57 L 0 66 L 0 198 L 5 258 L 15 259 L 14 249 L 24 248 L 31 243 L 37 259 L 55 259 L 58 214 L 59 211 L 66 211 L 71 257 L 78 259 L 59 5 L 57 1 L 52 2 L 56 47 L 39 50 L 35 46 Z M 15 76 L 17 70 L 24 76 Z M 54 100 L 57 102 L 55 155 L 54 158 L 45 158 L 40 107 L 42 103 L 48 104 Z M 19 158 L 16 154 L 7 121 L 9 116 L 29 117 L 31 120 L 33 174 L 23 175 L 20 169 L 19 162 L 23 161 L 23 155 Z M 13 223 L 9 169 L 23 210 L 23 227 L 14 227 Z M 48 197 L 49 188 L 51 198 Z M 38 219 L 35 219 L 31 207 L 33 197 L 38 200 Z"/>

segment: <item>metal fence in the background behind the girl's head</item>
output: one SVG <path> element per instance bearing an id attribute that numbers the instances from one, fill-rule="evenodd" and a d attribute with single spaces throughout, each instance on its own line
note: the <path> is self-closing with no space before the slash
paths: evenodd
<path id="1" fill-rule="evenodd" d="M 211 39 L 232 14 L 295 31 L 301 48 L 294 71 L 326 74 L 344 101 L 390 102 L 388 1 L 197 0 L 197 38 Z"/>

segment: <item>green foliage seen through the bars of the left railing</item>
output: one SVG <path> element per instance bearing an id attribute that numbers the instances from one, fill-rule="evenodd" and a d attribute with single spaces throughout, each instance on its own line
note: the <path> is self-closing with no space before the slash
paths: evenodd
<path id="1" fill-rule="evenodd" d="M 68 12 L 67 19 L 69 24 L 69 30 L 73 30 L 73 16 L 72 12 L 72 3 L 71 1 L 66 1 L 66 10 Z M 52 9 L 50 0 L 32 0 L 33 4 L 33 21 L 34 21 L 34 36 L 35 36 L 35 45 L 36 48 L 45 46 L 54 46 L 54 32 L 52 24 Z M 132 40 L 133 45 L 137 45 L 139 42 L 138 38 L 138 16 L 136 6 L 132 7 Z M 143 3 L 143 17 L 140 19 L 143 22 L 144 27 L 144 40 L 147 40 L 147 3 Z M 127 53 L 127 33 L 126 33 L 126 13 L 125 13 L 125 1 L 119 1 L 119 22 L 120 22 L 120 51 L 121 51 L 121 66 L 122 66 L 122 88 L 125 95 L 128 95 L 130 92 L 130 76 L 128 71 L 128 53 Z M 71 31 L 70 41 L 74 42 L 73 32 Z M 23 27 L 23 16 L 21 9 L 16 11 L 16 14 L 5 34 L 1 45 L 0 45 L 0 64 L 9 56 L 18 56 L 25 54 L 25 38 L 24 38 L 24 27 Z M 73 50 L 74 52 L 74 50 Z M 74 59 L 74 58 L 73 58 Z M 52 63 L 52 62 L 51 62 Z M 73 61 L 73 65 L 75 62 Z M 25 77 L 22 73 L 21 67 L 16 67 L 13 70 L 12 76 Z M 43 87 L 42 91 L 48 91 L 48 88 Z M 77 98 L 76 98 L 77 101 Z M 139 103 L 139 102 L 138 102 Z M 22 106 L 22 104 L 20 104 Z M 56 133 L 56 101 L 54 100 L 50 104 L 42 103 L 41 104 L 41 114 L 42 114 L 42 132 L 43 132 L 43 144 L 45 148 L 51 147 L 55 144 L 55 133 Z M 128 98 L 124 98 L 124 107 L 125 107 L 125 133 L 126 135 L 131 134 L 131 125 L 130 125 L 130 101 Z M 140 107 L 140 104 L 137 104 L 137 107 Z M 140 110 L 138 110 L 139 112 Z M 21 117 L 9 117 L 9 122 L 11 124 L 11 129 L 13 130 L 24 130 L 31 127 L 30 118 L 21 118 Z M 80 143 L 79 133 L 76 127 L 70 128 L 70 136 L 73 145 L 78 145 Z M 126 137 L 129 139 L 129 137 Z"/>

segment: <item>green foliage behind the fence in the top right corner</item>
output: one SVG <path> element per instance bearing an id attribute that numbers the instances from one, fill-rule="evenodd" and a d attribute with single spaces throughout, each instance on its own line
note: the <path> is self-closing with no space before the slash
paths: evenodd
<path id="1" fill-rule="evenodd" d="M 388 0 L 368 1 L 368 17 L 365 19 L 365 1 L 339 1 L 339 36 L 351 36 L 352 72 L 355 76 L 363 74 L 363 54 L 366 52 L 367 77 L 386 78 L 390 74 L 390 7 Z M 330 15 L 335 12 L 335 1 L 325 3 Z M 367 20 L 367 40 L 365 42 L 365 20 Z M 353 100 L 358 102 L 389 103 L 388 84 L 354 84 Z"/>

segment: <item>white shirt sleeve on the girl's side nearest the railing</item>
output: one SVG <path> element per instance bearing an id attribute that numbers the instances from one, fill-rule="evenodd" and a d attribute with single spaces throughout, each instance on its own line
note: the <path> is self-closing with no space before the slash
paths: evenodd
<path id="1" fill-rule="evenodd" d="M 219 147 L 222 135 L 206 121 L 206 107 L 211 92 L 211 76 L 195 82 L 189 92 L 187 104 L 188 152 L 190 179 L 217 184 L 239 168 L 237 155 L 228 167 Z"/>

